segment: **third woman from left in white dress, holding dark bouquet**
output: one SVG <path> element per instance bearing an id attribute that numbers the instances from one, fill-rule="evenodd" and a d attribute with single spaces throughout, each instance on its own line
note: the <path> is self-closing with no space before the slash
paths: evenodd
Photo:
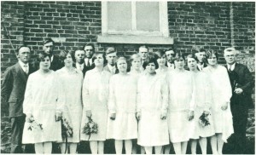
<path id="1" fill-rule="evenodd" d="M 87 71 L 83 84 L 83 117 L 81 123 L 80 140 L 90 141 L 92 154 L 104 153 L 104 141 L 107 134 L 108 119 L 108 83 L 111 73 L 103 70 L 105 55 L 96 54 L 93 56 L 95 68 Z M 89 118 L 97 123 L 97 134 L 89 135 L 83 133 L 85 123 Z"/>

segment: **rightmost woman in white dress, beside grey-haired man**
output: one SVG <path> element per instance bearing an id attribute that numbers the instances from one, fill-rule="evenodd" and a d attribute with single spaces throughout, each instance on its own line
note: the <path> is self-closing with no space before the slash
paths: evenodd
<path id="1" fill-rule="evenodd" d="M 203 72 L 208 74 L 212 91 L 212 118 L 215 135 L 212 136 L 212 153 L 222 154 L 224 142 L 234 133 L 230 97 L 232 89 L 228 72 L 224 66 L 218 65 L 218 53 L 207 52 L 208 66 Z M 214 142 L 215 141 L 215 142 Z"/>

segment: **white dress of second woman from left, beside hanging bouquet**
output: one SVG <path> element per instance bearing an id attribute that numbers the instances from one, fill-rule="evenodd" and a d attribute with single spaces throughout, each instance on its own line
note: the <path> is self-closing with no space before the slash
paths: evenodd
<path id="1" fill-rule="evenodd" d="M 56 73 L 61 90 L 58 102 L 61 105 L 62 118 L 65 118 L 73 128 L 73 137 L 67 137 L 67 141 L 78 143 L 82 118 L 83 73 L 76 69 L 73 72 L 68 72 L 65 67 Z"/>

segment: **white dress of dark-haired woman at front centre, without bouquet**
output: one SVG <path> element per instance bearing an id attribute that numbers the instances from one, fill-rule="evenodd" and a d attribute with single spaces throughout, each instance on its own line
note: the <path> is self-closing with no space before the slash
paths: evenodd
<path id="1" fill-rule="evenodd" d="M 158 75 L 143 75 L 137 83 L 138 123 L 137 144 L 140 146 L 164 146 L 169 144 L 167 120 L 160 119 L 167 112 L 167 85 Z"/>

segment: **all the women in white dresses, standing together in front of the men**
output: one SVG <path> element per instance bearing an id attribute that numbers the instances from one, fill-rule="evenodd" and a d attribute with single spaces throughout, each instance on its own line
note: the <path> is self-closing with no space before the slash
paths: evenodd
<path id="1" fill-rule="evenodd" d="M 65 143 L 61 137 L 61 122 L 55 115 L 62 114 L 73 128 L 73 137 L 67 141 L 75 153 L 79 141 L 88 141 L 82 133 L 88 117 L 98 124 L 98 133 L 90 135 L 91 152 L 104 153 L 104 141 L 115 140 L 116 153 L 131 154 L 132 140 L 143 146 L 146 153 L 170 151 L 170 141 L 177 154 L 185 154 L 188 141 L 192 153 L 199 140 L 201 151 L 207 153 L 207 137 L 211 137 L 213 154 L 221 154 L 224 142 L 233 133 L 230 112 L 231 87 L 224 66 L 218 65 L 218 54 L 208 53 L 208 66 L 197 70 L 195 55 L 186 60 L 177 53 L 175 69 L 168 69 L 166 55 L 159 53 L 141 65 L 139 55 L 131 56 L 131 72 L 127 60 L 119 57 L 118 74 L 103 70 L 104 55 L 94 55 L 95 68 L 82 72 L 73 67 L 73 55 L 65 55 L 65 66 L 49 70 L 49 55 L 40 55 L 39 70 L 27 81 L 24 100 L 26 125 L 24 144 L 34 143 L 37 153 L 50 153 L 52 141 Z M 184 70 L 185 63 L 189 71 Z M 144 67 L 144 71 L 142 70 Z M 210 125 L 199 123 L 201 114 L 208 115 Z M 28 130 L 31 120 L 41 123 L 43 129 Z M 134 146 L 133 146 L 134 147 Z M 143 150 L 142 149 L 142 150 Z"/>

